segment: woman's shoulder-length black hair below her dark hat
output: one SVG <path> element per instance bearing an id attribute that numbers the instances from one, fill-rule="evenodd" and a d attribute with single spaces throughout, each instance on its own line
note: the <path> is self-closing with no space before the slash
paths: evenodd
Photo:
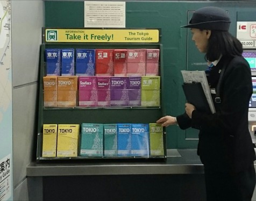
<path id="1" fill-rule="evenodd" d="M 219 57 L 240 56 L 243 53 L 243 45 L 228 31 L 211 31 L 209 38 L 208 50 L 204 58 L 207 61 L 218 60 Z"/>

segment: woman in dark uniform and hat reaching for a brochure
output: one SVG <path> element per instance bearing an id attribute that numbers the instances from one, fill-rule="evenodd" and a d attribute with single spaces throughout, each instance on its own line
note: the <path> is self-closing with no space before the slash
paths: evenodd
<path id="1" fill-rule="evenodd" d="M 204 165 L 207 200 L 251 200 L 255 187 L 255 152 L 248 131 L 251 71 L 241 56 L 243 46 L 228 31 L 230 23 L 224 10 L 205 7 L 183 26 L 191 28 L 198 51 L 214 65 L 207 77 L 211 91 L 220 97 L 213 98 L 216 113 L 199 112 L 186 103 L 186 113 L 157 121 L 162 126 L 200 130 L 197 154 Z"/>

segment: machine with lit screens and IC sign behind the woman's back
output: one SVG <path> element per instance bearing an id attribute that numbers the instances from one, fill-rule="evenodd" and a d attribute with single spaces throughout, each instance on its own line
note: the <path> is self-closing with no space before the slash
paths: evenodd
<path id="1" fill-rule="evenodd" d="M 248 105 L 248 121 L 252 141 L 256 145 L 256 21 L 237 21 L 237 38 L 243 44 L 243 56 L 252 73 L 253 94 Z"/>

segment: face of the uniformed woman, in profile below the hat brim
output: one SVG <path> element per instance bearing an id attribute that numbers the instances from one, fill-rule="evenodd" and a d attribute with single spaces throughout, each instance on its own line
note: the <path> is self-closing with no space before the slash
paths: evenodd
<path id="1" fill-rule="evenodd" d="M 208 39 L 211 35 L 210 30 L 200 30 L 198 28 L 191 28 L 192 40 L 199 52 L 206 53 L 208 48 Z"/>

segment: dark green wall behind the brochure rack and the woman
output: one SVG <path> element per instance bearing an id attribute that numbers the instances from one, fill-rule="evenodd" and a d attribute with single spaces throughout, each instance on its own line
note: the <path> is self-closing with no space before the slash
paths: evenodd
<path id="1" fill-rule="evenodd" d="M 180 28 L 186 25 L 191 13 L 203 6 L 219 6 L 229 12 L 232 19 L 230 32 L 236 35 L 238 13 L 243 19 L 255 19 L 256 2 L 237 1 L 133 1 L 126 2 L 126 27 L 161 28 L 163 45 L 163 80 L 165 85 L 165 111 L 177 116 L 184 112 L 184 98 L 181 88 L 180 70 L 204 69 L 204 57 L 191 41 L 190 30 Z M 248 13 L 247 18 L 244 13 Z M 254 13 L 254 14 L 253 14 Z M 251 16 L 251 17 L 250 17 Z M 248 20 L 250 21 L 250 20 Z M 46 27 L 83 27 L 83 1 L 46 1 Z M 155 117 L 157 120 L 158 117 Z M 167 148 L 196 148 L 198 131 L 190 128 L 180 130 L 169 126 Z"/>

